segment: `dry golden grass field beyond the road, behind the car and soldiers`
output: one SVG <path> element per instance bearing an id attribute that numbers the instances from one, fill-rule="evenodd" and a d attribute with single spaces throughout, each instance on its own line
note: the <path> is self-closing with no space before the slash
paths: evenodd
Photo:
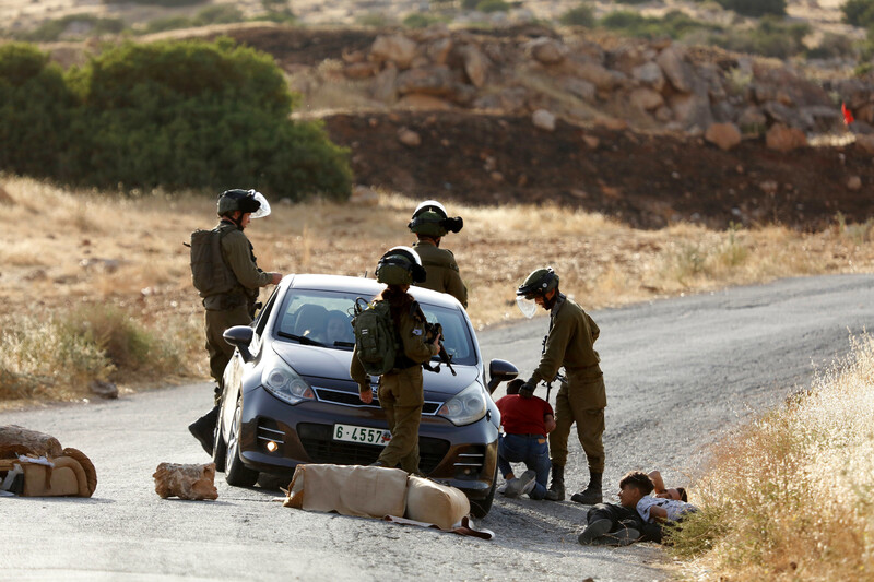
<path id="1" fill-rule="evenodd" d="M 0 383 L 31 388 L 5 395 L 0 390 L 0 400 L 82 397 L 88 376 L 108 377 L 122 389 L 206 376 L 201 307 L 182 242 L 191 230 L 214 224 L 212 195 L 116 198 L 23 178 L 9 178 L 3 186 L 9 194 L 0 197 L 7 217 L 0 247 L 4 345 L 36 345 L 27 344 L 27 333 L 73 330 L 67 344 L 85 337 L 106 355 L 110 338 L 118 344 L 127 334 L 133 337 L 128 344 L 134 345 L 125 349 L 145 351 L 152 361 L 129 358 L 119 364 L 109 357 L 96 370 L 83 364 L 82 373 L 64 373 L 57 370 L 80 369 L 71 358 L 90 361 L 93 354 L 55 348 L 47 351 L 54 360 L 39 360 L 24 347 L 8 348 L 0 356 Z M 391 193 L 380 194 L 376 206 L 274 200 L 272 216 L 255 222 L 247 235 L 267 270 L 373 274 L 387 248 L 412 242 L 405 225 L 416 203 Z M 464 217 L 464 229 L 447 237 L 445 245 L 461 266 L 470 289 L 469 311 L 479 329 L 521 317 L 515 288 L 543 264 L 553 265 L 562 288 L 589 309 L 874 268 L 872 225 L 846 225 L 840 217 L 813 234 L 782 227 L 712 231 L 689 225 L 643 231 L 598 214 L 551 206 L 449 204 L 449 211 Z M 125 317 L 83 326 L 95 317 L 94 310 L 85 317 L 82 309 L 94 306 L 97 311 L 111 307 Z M 132 323 L 119 332 L 126 322 Z M 34 388 L 47 378 L 49 390 Z"/>

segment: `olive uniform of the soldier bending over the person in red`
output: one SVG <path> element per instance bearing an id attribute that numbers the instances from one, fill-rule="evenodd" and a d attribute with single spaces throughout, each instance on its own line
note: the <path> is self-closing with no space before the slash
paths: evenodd
<path id="1" fill-rule="evenodd" d="M 550 333 L 540 365 L 529 382 L 551 381 L 564 366 L 567 383 L 555 397 L 555 430 L 550 432 L 553 465 L 567 461 L 567 438 L 577 423 L 577 436 L 589 460 L 589 471 L 604 472 L 604 407 L 607 405 L 604 377 L 594 351 L 600 330 L 589 314 L 563 294 L 550 312 Z"/>

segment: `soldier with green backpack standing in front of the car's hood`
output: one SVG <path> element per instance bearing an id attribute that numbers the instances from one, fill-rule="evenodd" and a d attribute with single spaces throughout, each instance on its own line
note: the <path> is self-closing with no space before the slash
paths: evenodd
<path id="1" fill-rule="evenodd" d="M 418 256 L 409 247 L 394 247 L 379 260 L 376 280 L 387 286 L 374 301 L 387 302 L 398 337 L 398 353 L 390 371 L 379 377 L 379 405 L 386 412 L 391 440 L 382 450 L 376 466 L 393 467 L 400 463 L 408 473 L 418 473 L 418 425 L 425 393 L 422 364 L 436 356 L 440 335 L 426 340 L 425 314 L 406 290 L 413 283 L 425 280 L 425 269 Z M 350 376 L 358 384 L 362 402 L 374 400 L 370 381 L 358 358 L 358 345 L 353 349 Z"/>

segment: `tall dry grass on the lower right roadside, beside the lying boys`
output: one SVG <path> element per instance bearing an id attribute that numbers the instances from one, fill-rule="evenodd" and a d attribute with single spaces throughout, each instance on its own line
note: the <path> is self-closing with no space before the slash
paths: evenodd
<path id="1" fill-rule="evenodd" d="M 673 536 L 687 578 L 874 578 L 874 338 L 852 343 L 807 393 L 716 451 L 693 491 L 702 511 Z"/>

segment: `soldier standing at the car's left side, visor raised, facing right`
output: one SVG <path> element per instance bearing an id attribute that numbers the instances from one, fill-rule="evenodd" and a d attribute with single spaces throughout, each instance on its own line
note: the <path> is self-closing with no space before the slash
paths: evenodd
<path id="1" fill-rule="evenodd" d="M 222 377 L 234 355 L 234 347 L 222 334 L 234 325 L 251 323 L 260 287 L 277 285 L 282 280 L 281 273 L 265 273 L 258 268 L 252 245 L 243 233 L 251 218 L 268 214 L 270 204 L 260 192 L 226 190 L 218 197 L 218 224 L 212 230 L 196 231 L 191 237 L 191 274 L 206 310 L 206 352 L 210 373 L 217 385 L 213 408 L 189 425 L 188 430 L 209 454 L 212 454 L 218 418 Z M 198 233 L 203 235 L 200 245 L 196 242 Z"/>

